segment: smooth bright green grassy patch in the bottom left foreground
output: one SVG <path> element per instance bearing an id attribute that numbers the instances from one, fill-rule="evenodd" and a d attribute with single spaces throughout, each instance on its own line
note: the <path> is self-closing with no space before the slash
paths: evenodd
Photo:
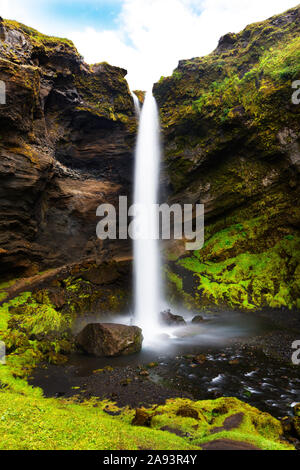
<path id="1" fill-rule="evenodd" d="M 169 433 L 131 426 L 102 409 L 107 404 L 82 405 L 1 392 L 1 450 L 171 450 L 195 449 Z"/>

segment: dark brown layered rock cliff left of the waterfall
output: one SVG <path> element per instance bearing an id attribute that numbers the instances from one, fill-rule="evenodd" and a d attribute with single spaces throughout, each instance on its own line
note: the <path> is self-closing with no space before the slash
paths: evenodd
<path id="1" fill-rule="evenodd" d="M 1 20 L 2 278 L 107 258 L 96 208 L 131 193 L 136 121 L 126 73 L 89 66 L 70 41 Z M 130 251 L 116 245 L 119 256 Z"/>

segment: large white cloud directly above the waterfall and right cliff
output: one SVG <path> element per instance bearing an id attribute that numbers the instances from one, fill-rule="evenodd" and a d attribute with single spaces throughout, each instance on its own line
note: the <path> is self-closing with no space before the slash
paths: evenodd
<path id="1" fill-rule="evenodd" d="M 170 75 L 180 59 L 208 54 L 227 32 L 296 5 L 295 0 L 125 0 L 117 31 L 71 34 L 88 62 L 128 70 L 130 86 L 145 89 Z"/>

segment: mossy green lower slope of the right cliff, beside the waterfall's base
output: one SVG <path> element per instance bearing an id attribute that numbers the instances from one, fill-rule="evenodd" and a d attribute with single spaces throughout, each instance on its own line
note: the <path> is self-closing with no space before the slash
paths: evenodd
<path id="1" fill-rule="evenodd" d="M 173 252 L 167 279 L 177 299 L 186 303 L 188 295 L 189 305 L 197 307 L 299 308 L 300 237 L 297 231 L 280 226 L 286 214 L 291 220 L 288 207 L 289 201 L 273 202 L 264 215 L 248 220 L 245 214 L 249 216 L 251 209 L 239 209 L 231 217 L 207 224 L 200 251 L 182 256 L 180 250 L 177 259 Z M 253 211 L 258 212 L 257 203 Z"/>

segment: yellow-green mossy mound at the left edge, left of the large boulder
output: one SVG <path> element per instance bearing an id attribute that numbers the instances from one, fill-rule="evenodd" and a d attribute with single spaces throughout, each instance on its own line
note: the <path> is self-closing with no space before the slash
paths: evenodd
<path id="1" fill-rule="evenodd" d="M 14 376 L 26 377 L 43 360 L 66 361 L 64 354 L 73 347 L 73 318 L 55 310 L 46 293 L 43 298 L 41 294 L 37 297 L 44 303 L 39 303 L 31 292 L 24 292 L 0 307 L 0 338 L 5 342 L 7 365 Z"/>

